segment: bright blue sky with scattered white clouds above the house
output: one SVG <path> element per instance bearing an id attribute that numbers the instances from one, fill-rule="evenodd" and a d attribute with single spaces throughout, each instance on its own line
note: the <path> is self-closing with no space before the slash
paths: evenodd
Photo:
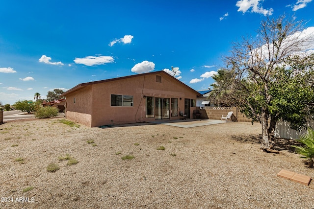
<path id="1" fill-rule="evenodd" d="M 0 0 L 0 101 L 170 71 L 204 90 L 232 42 L 268 15 L 314 27 L 314 0 Z"/>

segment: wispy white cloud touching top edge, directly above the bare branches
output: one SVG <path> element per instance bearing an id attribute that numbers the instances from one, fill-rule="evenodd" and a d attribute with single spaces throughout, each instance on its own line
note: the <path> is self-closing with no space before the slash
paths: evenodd
<path id="1" fill-rule="evenodd" d="M 260 5 L 260 1 L 263 0 L 238 0 L 235 6 L 239 7 L 237 11 L 243 12 L 243 14 L 252 7 L 252 12 L 263 14 L 264 16 L 272 15 L 274 10 L 272 8 L 264 9 Z"/>

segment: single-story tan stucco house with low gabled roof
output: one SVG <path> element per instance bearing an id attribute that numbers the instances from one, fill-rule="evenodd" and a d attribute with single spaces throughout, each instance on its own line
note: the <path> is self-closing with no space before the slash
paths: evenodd
<path id="1" fill-rule="evenodd" d="M 65 116 L 90 127 L 193 117 L 196 92 L 165 71 L 81 83 L 63 93 Z"/>

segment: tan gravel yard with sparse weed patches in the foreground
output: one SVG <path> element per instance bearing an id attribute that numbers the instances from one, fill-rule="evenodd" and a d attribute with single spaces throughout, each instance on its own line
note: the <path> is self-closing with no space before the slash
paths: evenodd
<path id="1" fill-rule="evenodd" d="M 286 169 L 313 178 L 314 169 L 289 150 L 291 140 L 260 151 L 259 123 L 102 129 L 61 119 L 0 125 L 1 209 L 314 208 L 314 182 L 276 176 Z M 78 163 L 59 160 L 67 154 Z M 48 172 L 51 163 L 59 170 Z"/>

